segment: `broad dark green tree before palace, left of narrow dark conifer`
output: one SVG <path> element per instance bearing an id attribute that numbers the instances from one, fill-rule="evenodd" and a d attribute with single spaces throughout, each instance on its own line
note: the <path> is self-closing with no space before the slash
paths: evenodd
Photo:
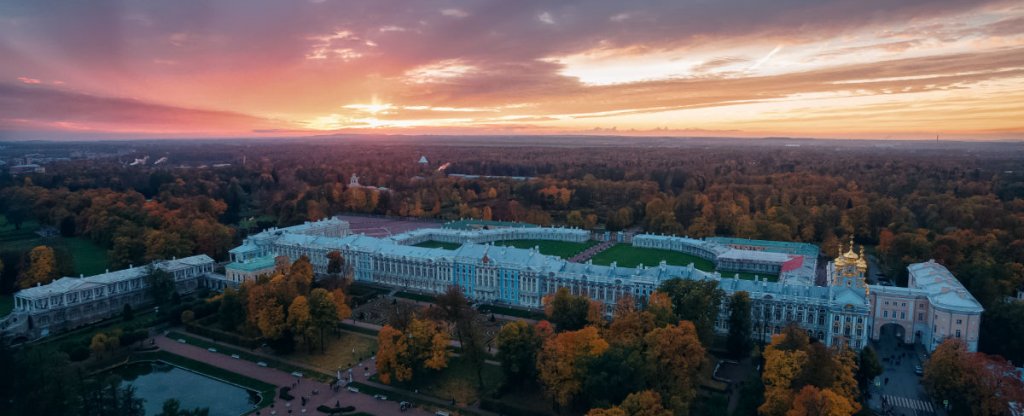
<path id="1" fill-rule="evenodd" d="M 713 280 L 670 279 L 662 283 L 659 292 L 672 299 L 673 310 L 682 321 L 690 321 L 700 335 L 700 342 L 711 344 L 715 336 L 715 321 L 725 292 Z"/>

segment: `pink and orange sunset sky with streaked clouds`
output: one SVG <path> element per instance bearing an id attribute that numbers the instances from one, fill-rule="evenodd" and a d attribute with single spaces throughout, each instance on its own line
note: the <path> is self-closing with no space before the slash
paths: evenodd
<path id="1" fill-rule="evenodd" d="M 0 0 L 0 139 L 1024 139 L 1024 2 Z"/>

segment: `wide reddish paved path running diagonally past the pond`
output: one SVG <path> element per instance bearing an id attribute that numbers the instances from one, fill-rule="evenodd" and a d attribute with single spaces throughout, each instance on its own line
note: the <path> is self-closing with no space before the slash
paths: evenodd
<path id="1" fill-rule="evenodd" d="M 282 386 L 291 386 L 293 383 L 295 387 L 292 389 L 291 393 L 296 399 L 291 401 L 290 404 L 286 403 L 282 399 L 275 398 L 273 403 L 273 408 L 264 408 L 259 411 L 254 411 L 250 413 L 251 415 L 302 415 L 303 408 L 301 405 L 300 397 L 309 398 L 309 402 L 304 408 L 306 410 L 305 414 L 308 415 L 322 415 L 316 411 L 316 407 L 319 405 L 334 406 L 336 403 L 340 403 L 341 406 L 354 406 L 356 412 L 362 411 L 372 413 L 379 416 L 398 416 L 398 415 L 429 415 L 430 413 L 420 410 L 411 409 L 407 412 L 402 412 L 398 409 L 397 402 L 391 401 L 378 401 L 374 398 L 361 394 L 353 393 L 342 388 L 339 392 L 331 391 L 331 387 L 326 383 L 321 383 L 312 379 L 297 379 L 295 376 L 286 373 L 281 370 L 259 367 L 255 363 L 236 360 L 228 356 L 219 352 L 211 352 L 202 347 L 189 344 L 179 343 L 173 339 L 167 338 L 163 335 L 156 338 L 157 345 L 161 349 L 173 352 L 178 356 L 187 357 L 193 360 L 201 361 L 203 363 L 210 364 L 214 367 L 219 367 L 221 369 L 242 374 L 247 377 L 252 377 L 257 380 L 261 380 L 270 384 L 276 385 L 279 388 Z M 368 363 L 362 363 L 368 364 Z M 369 373 L 373 374 L 373 373 Z M 364 372 L 353 371 L 352 379 L 359 382 L 368 382 L 368 384 L 377 384 L 369 382 L 367 376 Z M 386 386 L 385 386 L 386 387 Z M 319 390 L 319 394 L 314 396 L 312 393 L 313 389 Z M 288 411 L 292 410 L 291 413 Z"/>

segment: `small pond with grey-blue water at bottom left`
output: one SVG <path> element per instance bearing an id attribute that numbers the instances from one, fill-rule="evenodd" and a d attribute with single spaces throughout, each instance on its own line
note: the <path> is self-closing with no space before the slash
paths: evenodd
<path id="1" fill-rule="evenodd" d="M 160 414 L 164 402 L 177 399 L 181 409 L 209 408 L 211 415 L 241 415 L 259 396 L 252 390 L 194 373 L 164 362 L 132 363 L 112 371 L 144 399 L 146 416 Z"/>

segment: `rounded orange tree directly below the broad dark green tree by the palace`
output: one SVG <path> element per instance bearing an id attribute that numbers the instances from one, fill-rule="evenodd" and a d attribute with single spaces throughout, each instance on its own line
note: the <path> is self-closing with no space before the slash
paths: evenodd
<path id="1" fill-rule="evenodd" d="M 697 372 L 705 361 L 696 328 L 688 321 L 656 328 L 644 337 L 647 377 L 666 407 L 687 414 L 697 392 Z"/>

